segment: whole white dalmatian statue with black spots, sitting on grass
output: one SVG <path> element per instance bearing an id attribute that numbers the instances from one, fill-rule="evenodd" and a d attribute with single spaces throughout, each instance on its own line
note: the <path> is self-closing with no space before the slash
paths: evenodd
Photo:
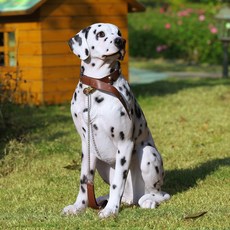
<path id="1" fill-rule="evenodd" d="M 108 23 L 93 24 L 71 38 L 69 46 L 81 59 L 81 76 L 90 81 L 80 78 L 71 102 L 82 141 L 82 163 L 77 199 L 63 213 L 78 214 L 88 207 L 87 181 L 93 181 L 96 169 L 110 185 L 109 194 L 97 199 L 108 198 L 100 218 L 118 214 L 121 202 L 155 208 L 170 195 L 161 191 L 162 157 L 121 74 L 119 61 L 125 55 L 125 40 L 120 30 Z M 97 84 L 92 86 L 94 79 Z M 119 96 L 100 88 L 100 84 L 113 88 Z"/>

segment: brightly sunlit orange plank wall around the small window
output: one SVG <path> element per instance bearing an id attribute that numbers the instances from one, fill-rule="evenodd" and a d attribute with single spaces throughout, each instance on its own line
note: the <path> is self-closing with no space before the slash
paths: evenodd
<path id="1" fill-rule="evenodd" d="M 1 76 L 5 75 L 4 72 L 9 72 L 13 78 L 20 78 L 16 92 L 17 102 L 40 104 L 43 101 L 40 23 L 31 21 L 29 17 L 26 20 L 25 17 L 17 17 L 9 22 L 1 20 L 1 30 L 16 32 L 18 61 L 17 67 L 1 67 Z M 23 98 L 20 95 L 23 95 Z"/>

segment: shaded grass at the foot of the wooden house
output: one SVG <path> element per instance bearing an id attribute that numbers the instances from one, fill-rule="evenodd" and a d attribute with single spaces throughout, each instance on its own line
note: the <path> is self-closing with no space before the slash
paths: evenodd
<path id="1" fill-rule="evenodd" d="M 3 104 L 1 110 L 4 116 L 4 126 L 0 126 L 0 160 L 5 156 L 5 147 L 10 140 L 16 139 L 19 142 L 41 141 L 41 135 L 37 140 L 27 139 L 26 135 L 33 132 L 43 133 L 43 129 L 49 124 L 65 123 L 72 121 L 70 112 L 66 113 L 67 105 L 64 106 L 20 106 L 14 104 Z M 60 130 L 49 141 L 66 135 Z"/>

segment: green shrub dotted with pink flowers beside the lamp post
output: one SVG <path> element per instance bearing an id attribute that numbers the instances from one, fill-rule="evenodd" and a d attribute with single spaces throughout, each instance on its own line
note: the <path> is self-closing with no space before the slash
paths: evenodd
<path id="1" fill-rule="evenodd" d="M 202 6 L 201 4 L 195 5 Z M 129 15 L 132 57 L 184 59 L 189 63 L 221 63 L 222 47 L 217 38 L 217 9 L 147 8 Z"/>

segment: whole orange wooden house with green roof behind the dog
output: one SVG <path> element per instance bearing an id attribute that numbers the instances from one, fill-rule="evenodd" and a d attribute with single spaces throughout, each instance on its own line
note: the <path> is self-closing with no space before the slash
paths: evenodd
<path id="1" fill-rule="evenodd" d="M 0 0 L 0 84 L 11 82 L 20 103 L 70 101 L 80 61 L 69 38 L 90 24 L 109 22 L 127 39 L 128 12 L 143 10 L 135 0 Z M 128 53 L 122 68 L 128 76 Z"/>

